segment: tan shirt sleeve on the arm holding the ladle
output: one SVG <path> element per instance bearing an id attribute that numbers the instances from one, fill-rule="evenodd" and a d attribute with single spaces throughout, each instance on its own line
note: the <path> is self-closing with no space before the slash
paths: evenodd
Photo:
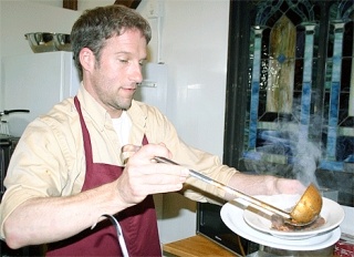
<path id="1" fill-rule="evenodd" d="M 56 128 L 54 128 L 56 127 Z M 35 197 L 70 195 L 75 191 L 74 157 L 69 148 L 76 144 L 64 136 L 60 121 L 52 117 L 34 120 L 25 128 L 11 156 L 4 179 L 6 193 L 0 205 L 1 237 L 6 218 L 22 203 Z M 75 147 L 71 147 L 75 148 Z M 75 164 L 77 166 L 77 164 Z"/>

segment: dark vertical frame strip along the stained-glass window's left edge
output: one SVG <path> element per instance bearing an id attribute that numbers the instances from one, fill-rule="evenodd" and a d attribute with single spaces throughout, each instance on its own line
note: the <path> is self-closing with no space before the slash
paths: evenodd
<path id="1" fill-rule="evenodd" d="M 229 50 L 225 110 L 223 163 L 242 171 L 244 119 L 247 112 L 248 1 L 230 1 Z"/>

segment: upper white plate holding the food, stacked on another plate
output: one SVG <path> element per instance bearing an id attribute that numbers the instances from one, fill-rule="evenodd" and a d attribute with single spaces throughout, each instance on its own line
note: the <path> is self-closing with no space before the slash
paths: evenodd
<path id="1" fill-rule="evenodd" d="M 281 209 L 287 209 L 289 207 L 292 207 L 296 204 L 300 196 L 296 195 L 274 195 L 274 196 L 256 196 L 256 198 L 259 198 L 260 201 L 263 201 L 266 203 L 272 204 L 273 206 L 277 206 Z M 284 238 L 284 239 L 305 239 L 313 237 L 320 233 L 325 233 L 329 230 L 332 230 L 333 228 L 337 227 L 344 219 L 344 209 L 335 203 L 334 201 L 322 198 L 323 205 L 321 209 L 321 217 L 324 218 L 325 224 L 322 226 L 319 226 L 313 229 L 308 230 L 295 230 L 295 232 L 282 232 L 271 228 L 271 220 L 267 217 L 263 217 L 263 214 L 257 214 L 259 213 L 257 209 L 248 208 L 243 213 L 243 218 L 248 225 L 251 227 L 269 233 L 275 237 Z M 264 216 L 267 216 L 264 214 Z"/>

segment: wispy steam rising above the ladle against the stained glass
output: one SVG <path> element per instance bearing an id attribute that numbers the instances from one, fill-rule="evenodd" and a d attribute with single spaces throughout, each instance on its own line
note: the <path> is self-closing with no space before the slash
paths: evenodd
<path id="1" fill-rule="evenodd" d="M 300 100 L 294 101 L 291 114 L 279 114 L 273 121 L 277 130 L 261 130 L 258 140 L 261 145 L 257 152 L 262 155 L 261 165 L 246 161 L 248 171 L 256 173 L 273 172 L 273 175 L 293 177 L 301 181 L 304 185 L 313 183 L 317 186 L 315 171 L 320 162 L 322 152 L 317 140 L 311 140 L 309 130 L 300 124 Z M 321 117 L 311 117 L 311 126 L 321 127 Z M 266 163 L 266 164 L 264 164 Z M 279 167 L 279 164 L 281 167 Z M 282 171 L 275 171 L 275 169 Z M 266 169 L 266 171 L 264 171 Z"/>

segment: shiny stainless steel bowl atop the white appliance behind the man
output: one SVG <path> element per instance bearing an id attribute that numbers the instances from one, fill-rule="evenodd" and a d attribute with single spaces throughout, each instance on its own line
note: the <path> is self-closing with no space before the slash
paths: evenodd
<path id="1" fill-rule="evenodd" d="M 24 34 L 34 53 L 71 51 L 70 34 L 32 32 Z"/>

